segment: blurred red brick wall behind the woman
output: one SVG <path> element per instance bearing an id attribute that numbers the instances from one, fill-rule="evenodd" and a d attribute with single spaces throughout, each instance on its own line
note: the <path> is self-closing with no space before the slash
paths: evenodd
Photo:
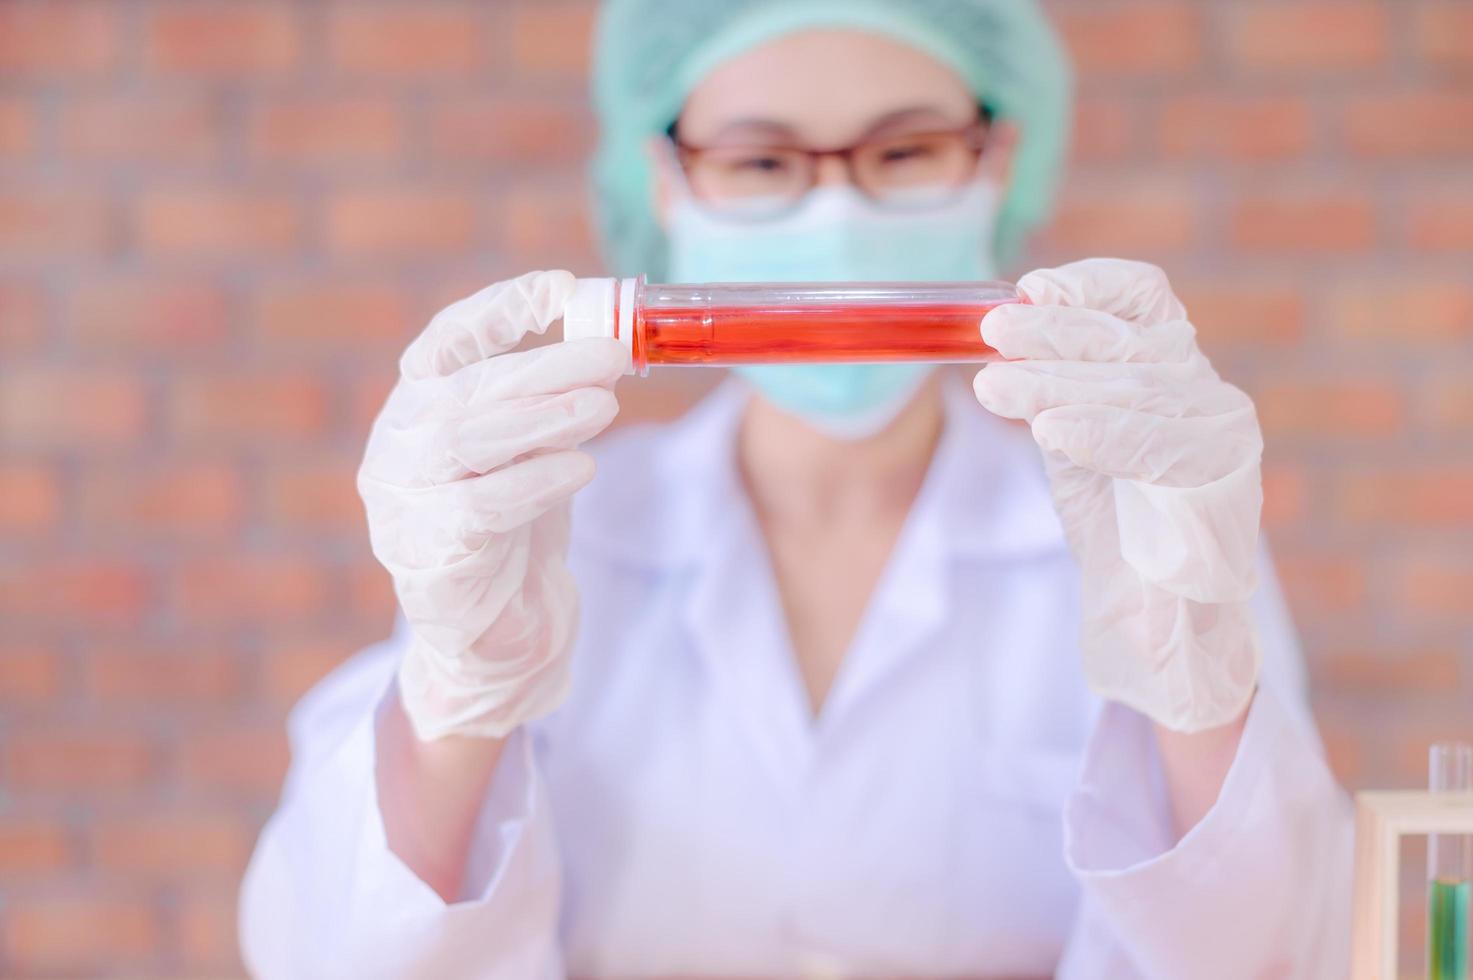
<path id="1" fill-rule="evenodd" d="M 1258 399 L 1335 769 L 1421 785 L 1473 738 L 1473 3 L 1046 6 L 1080 99 L 1030 264 L 1168 270 Z M 284 715 L 389 629 L 352 475 L 399 349 L 600 271 L 592 9 L 0 0 L 0 976 L 240 971 Z"/>

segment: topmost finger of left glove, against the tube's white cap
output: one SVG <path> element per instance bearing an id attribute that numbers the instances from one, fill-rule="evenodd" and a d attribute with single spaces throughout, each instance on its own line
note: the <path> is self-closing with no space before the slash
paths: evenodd
<path id="1" fill-rule="evenodd" d="M 399 358 L 407 379 L 443 377 L 517 346 L 563 315 L 573 295 L 572 273 L 527 273 L 492 283 L 435 314 Z"/>

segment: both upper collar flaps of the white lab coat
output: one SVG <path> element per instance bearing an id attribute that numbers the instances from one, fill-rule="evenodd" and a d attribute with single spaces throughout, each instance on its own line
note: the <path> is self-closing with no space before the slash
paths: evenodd
<path id="1" fill-rule="evenodd" d="M 576 544 L 651 569 L 709 561 L 713 535 L 748 507 L 736 430 L 750 396 L 729 379 L 678 421 L 611 439 L 600 452 L 600 492 L 577 500 Z M 916 533 L 946 556 L 987 561 L 1065 548 L 1027 427 L 984 411 L 953 373 L 943 399 L 946 429 L 912 514 Z M 647 445 L 620 451 L 620 442 Z"/>

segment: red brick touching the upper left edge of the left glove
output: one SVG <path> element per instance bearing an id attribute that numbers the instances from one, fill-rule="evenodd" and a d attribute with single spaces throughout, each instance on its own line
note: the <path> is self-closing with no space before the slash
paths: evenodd
<path id="1" fill-rule="evenodd" d="M 420 324 L 405 292 L 392 283 L 311 279 L 256 290 L 256 333 L 262 345 L 300 357 L 371 357 L 393 364 Z"/>

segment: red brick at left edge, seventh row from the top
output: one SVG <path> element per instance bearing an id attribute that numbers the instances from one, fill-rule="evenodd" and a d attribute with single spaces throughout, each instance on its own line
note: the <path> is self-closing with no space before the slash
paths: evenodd
<path id="1" fill-rule="evenodd" d="M 0 566 L 0 619 L 133 625 L 152 597 L 152 576 L 137 561 L 78 557 Z"/>

